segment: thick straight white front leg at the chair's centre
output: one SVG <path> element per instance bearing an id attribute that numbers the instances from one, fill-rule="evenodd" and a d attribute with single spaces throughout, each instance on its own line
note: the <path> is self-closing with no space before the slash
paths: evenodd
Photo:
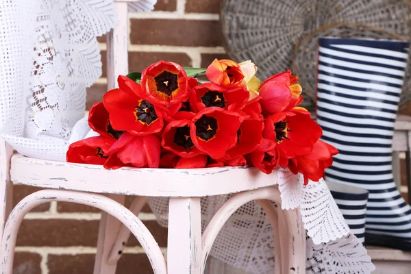
<path id="1" fill-rule="evenodd" d="M 168 274 L 201 274 L 200 198 L 171 198 Z"/>

